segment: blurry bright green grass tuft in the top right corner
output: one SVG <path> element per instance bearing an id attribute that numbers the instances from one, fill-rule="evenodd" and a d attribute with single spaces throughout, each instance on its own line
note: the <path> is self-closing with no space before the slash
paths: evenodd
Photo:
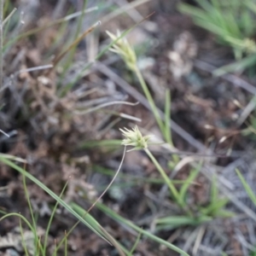
<path id="1" fill-rule="evenodd" d="M 220 67 L 216 75 L 242 72 L 256 63 L 255 1 L 196 0 L 198 7 L 180 3 L 178 9 L 190 15 L 195 24 L 215 34 L 218 42 L 233 49 L 236 62 Z"/>

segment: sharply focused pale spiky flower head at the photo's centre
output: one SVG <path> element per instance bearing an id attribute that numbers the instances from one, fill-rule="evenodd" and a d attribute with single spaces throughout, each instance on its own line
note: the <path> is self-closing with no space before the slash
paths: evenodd
<path id="1" fill-rule="evenodd" d="M 127 128 L 125 128 L 125 130 L 119 130 L 122 131 L 123 136 L 125 137 L 122 144 L 125 146 L 133 146 L 134 148 L 132 148 L 131 150 L 148 148 L 148 140 L 151 136 L 143 136 L 141 131 L 139 131 L 139 129 L 137 128 L 137 125 L 132 130 L 129 130 Z"/>

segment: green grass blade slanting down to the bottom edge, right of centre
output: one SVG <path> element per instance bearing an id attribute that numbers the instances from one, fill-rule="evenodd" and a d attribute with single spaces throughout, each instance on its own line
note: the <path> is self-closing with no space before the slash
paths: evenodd
<path id="1" fill-rule="evenodd" d="M 121 217 L 118 213 L 113 212 L 113 210 L 111 210 L 109 207 L 106 207 L 102 203 L 97 203 L 96 207 L 99 208 L 105 214 L 107 214 L 110 218 L 113 218 L 113 220 L 119 222 L 120 224 L 127 225 L 131 229 L 136 230 L 138 233 L 141 233 L 143 236 L 147 236 L 149 239 L 156 241 L 156 242 L 160 243 L 161 245 L 164 245 L 177 253 L 181 253 L 182 255 L 189 256 L 188 253 L 183 252 L 183 250 L 172 245 L 172 243 L 165 241 L 158 236 L 154 236 L 153 234 L 149 233 L 147 230 L 141 229 L 136 224 L 133 224 L 130 220 Z"/>

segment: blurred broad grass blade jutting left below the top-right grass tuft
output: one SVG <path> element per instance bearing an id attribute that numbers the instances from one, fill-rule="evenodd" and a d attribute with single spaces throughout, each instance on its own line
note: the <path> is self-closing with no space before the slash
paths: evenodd
<path id="1" fill-rule="evenodd" d="M 241 61 L 236 61 L 235 63 L 216 69 L 213 72 L 213 75 L 222 76 L 225 73 L 240 72 L 247 67 L 253 66 L 255 63 L 256 63 L 256 53 L 249 55 L 246 58 L 243 58 Z"/>

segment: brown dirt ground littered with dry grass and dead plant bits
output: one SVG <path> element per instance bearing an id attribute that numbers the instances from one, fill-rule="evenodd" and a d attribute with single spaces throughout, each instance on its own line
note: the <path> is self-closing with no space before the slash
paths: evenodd
<path id="1" fill-rule="evenodd" d="M 83 1 L 79 0 L 9 2 L 12 3 L 9 9 L 16 7 L 18 10 L 12 17 L 4 44 L 83 7 Z M 234 101 L 247 106 L 255 91 L 255 80 L 246 74 L 212 76 L 216 67 L 233 61 L 232 52 L 218 44 L 212 34 L 195 26 L 188 16 L 177 11 L 177 3 L 181 0 L 145 1 L 126 15 L 109 15 L 117 9 L 112 8 L 113 4 L 124 8 L 128 2 L 138 1 L 88 1 L 88 8 L 97 5 L 100 8 L 85 15 L 80 31 L 84 32 L 97 20 L 101 20 L 102 25 L 79 43 L 73 56 L 65 55 L 56 68 L 27 71 L 30 67 L 48 65 L 55 60 L 54 55 L 60 55 L 66 43 L 72 42 L 70 40 L 78 27 L 76 20 L 67 21 L 65 27 L 60 23 L 44 28 L 20 38 L 5 49 L 0 129 L 10 137 L 0 136 L 1 153 L 26 159 L 26 170 L 57 195 L 68 181 L 63 199 L 75 201 L 88 209 L 91 201 L 96 200 L 111 181 L 111 176 L 101 172 L 101 167 L 114 172 L 119 166 L 123 148 L 84 145 L 90 141 L 120 139 L 119 128 L 132 127 L 136 123 L 120 119 L 113 113 L 142 119 L 137 123 L 142 131 L 161 138 L 138 81 L 124 62 L 109 51 L 94 61 L 97 53 L 109 43 L 106 30 L 128 29 L 151 14 L 127 38 L 137 51 L 143 77 L 161 110 L 164 109 L 165 90 L 171 90 L 173 142 L 183 159 L 174 178 L 186 179 L 189 161 L 203 160 L 196 185 L 189 189 L 189 207 L 193 209 L 195 203 L 207 204 L 215 173 L 219 193 L 229 198 L 227 209 L 236 212 L 236 217 L 215 218 L 199 226 L 156 230 L 155 218 L 179 212 L 166 196 L 164 185 L 143 180 L 143 177 L 160 176 L 141 151 L 126 154 L 121 171 L 123 176 L 117 177 L 102 202 L 191 255 L 226 255 L 221 252 L 249 255 L 256 241 L 255 207 L 242 189 L 235 169 L 241 170 L 256 191 L 254 141 L 253 137 L 236 132 L 243 125 L 238 122 L 242 110 Z M 183 2 L 195 4 L 189 0 Z M 66 63 L 70 63 L 67 68 Z M 93 63 L 92 67 L 65 96 L 61 96 L 60 92 L 88 63 Z M 20 70 L 26 71 L 19 73 Z M 106 108 L 108 112 L 79 114 L 83 109 L 112 101 L 140 103 L 135 107 L 110 106 Z M 223 137 L 227 138 L 219 143 Z M 171 174 L 168 168 L 170 151 L 161 147 L 152 150 L 161 166 Z M 27 189 L 33 211 L 38 216 L 38 232 L 44 234 L 55 201 L 28 180 Z M 3 164 L 0 168 L 0 209 L 20 212 L 30 219 L 22 177 Z M 121 244 L 132 247 L 136 232 L 114 222 L 96 208 L 91 214 Z M 65 230 L 70 230 L 75 222 L 71 214 L 58 208 L 49 231 L 49 255 L 55 247 L 55 240 L 60 241 Z M 25 255 L 17 245 L 20 241 L 18 227 L 18 218 L 6 218 L 0 222 L 0 255 Z M 64 255 L 63 251 L 60 255 Z M 84 224 L 79 224 L 68 239 L 68 255 L 119 254 Z M 177 253 L 142 237 L 133 255 L 170 256 Z"/>

